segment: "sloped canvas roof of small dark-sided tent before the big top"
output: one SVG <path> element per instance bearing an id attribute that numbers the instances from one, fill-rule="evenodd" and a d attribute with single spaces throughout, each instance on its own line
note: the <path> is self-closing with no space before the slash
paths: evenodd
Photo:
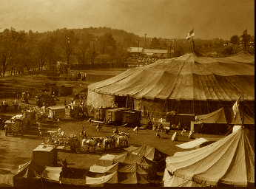
<path id="1" fill-rule="evenodd" d="M 226 123 L 224 109 L 220 108 L 209 114 L 198 115 L 198 121 L 200 123 Z"/>

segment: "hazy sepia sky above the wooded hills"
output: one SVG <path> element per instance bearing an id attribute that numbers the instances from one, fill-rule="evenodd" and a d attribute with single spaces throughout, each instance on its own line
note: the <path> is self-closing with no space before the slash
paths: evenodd
<path id="1" fill-rule="evenodd" d="M 255 0 L 0 0 L 0 32 L 111 27 L 149 38 L 255 35 Z"/>

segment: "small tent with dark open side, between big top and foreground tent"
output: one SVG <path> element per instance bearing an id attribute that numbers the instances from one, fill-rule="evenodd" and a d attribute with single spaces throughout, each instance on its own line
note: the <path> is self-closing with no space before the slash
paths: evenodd
<path id="1" fill-rule="evenodd" d="M 195 121 L 191 121 L 190 131 L 204 134 L 225 134 L 227 122 L 223 108 L 209 114 L 198 115 Z"/>

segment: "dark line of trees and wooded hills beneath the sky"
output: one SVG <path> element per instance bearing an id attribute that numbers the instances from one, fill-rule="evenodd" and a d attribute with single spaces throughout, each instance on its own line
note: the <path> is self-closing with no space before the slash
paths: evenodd
<path id="1" fill-rule="evenodd" d="M 110 27 L 63 28 L 48 32 L 5 29 L 0 32 L 0 76 L 4 77 L 7 72 L 10 75 L 34 70 L 54 72 L 57 61 L 67 63 L 67 66 L 90 64 L 93 67 L 94 63 L 108 62 L 123 65 L 129 56 L 128 47 L 168 49 L 172 57 L 191 51 L 191 44 L 186 39 L 174 39 L 172 45 L 170 41 L 166 38 L 144 38 Z M 195 39 L 195 49 L 201 54 L 218 52 L 219 55 L 231 55 L 241 48 L 254 53 L 254 48 L 249 48 L 252 41 L 255 41 L 254 36 L 247 34 L 241 38 L 234 35 L 229 41 Z"/>

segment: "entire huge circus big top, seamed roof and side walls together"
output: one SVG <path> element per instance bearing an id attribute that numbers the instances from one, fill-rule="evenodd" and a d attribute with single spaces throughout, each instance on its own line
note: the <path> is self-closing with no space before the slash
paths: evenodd
<path id="1" fill-rule="evenodd" d="M 127 69 L 113 78 L 90 84 L 87 105 L 98 109 L 118 104 L 153 117 L 172 110 L 180 114 L 208 114 L 220 107 L 229 112 L 242 93 L 241 103 L 246 102 L 254 112 L 254 55 L 240 52 L 212 58 L 188 53 Z M 226 118 L 231 120 L 227 115 Z"/>

